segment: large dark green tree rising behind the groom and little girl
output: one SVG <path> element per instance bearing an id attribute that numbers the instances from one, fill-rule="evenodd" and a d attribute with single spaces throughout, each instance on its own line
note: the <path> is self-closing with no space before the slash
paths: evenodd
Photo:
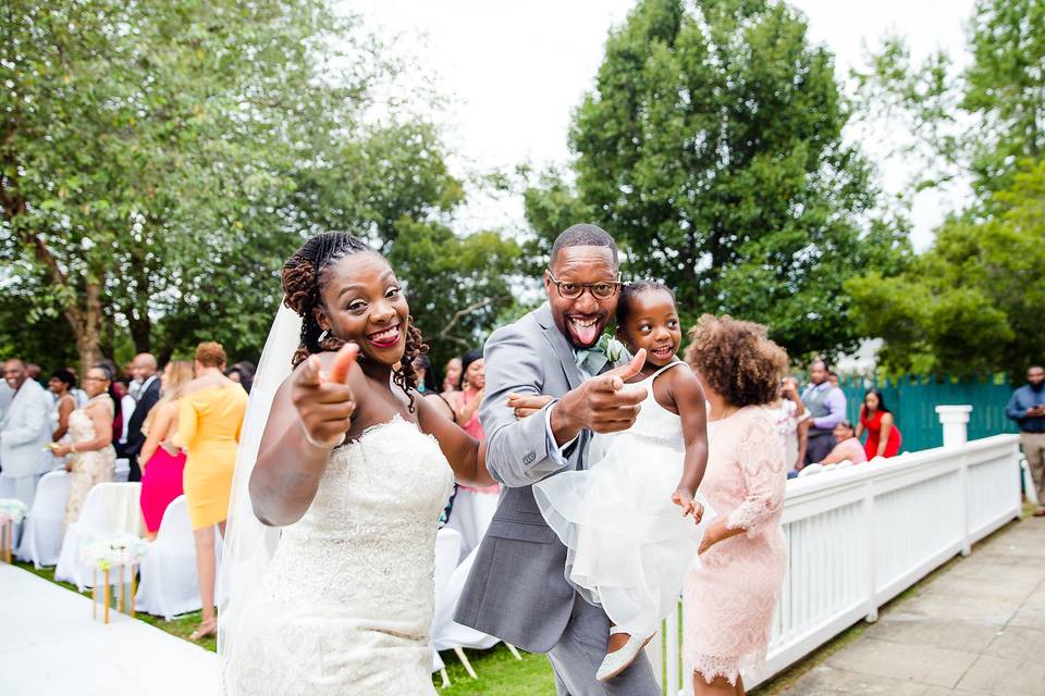
<path id="1" fill-rule="evenodd" d="M 906 231 L 872 224 L 833 59 L 785 3 L 688 7 L 647 0 L 611 34 L 570 133 L 577 200 L 545 181 L 530 222 L 549 235 L 556 210 L 590 211 L 626 271 L 676 288 L 690 321 L 766 322 L 792 355 L 851 348 L 843 283 L 870 264 L 893 273 Z"/>

